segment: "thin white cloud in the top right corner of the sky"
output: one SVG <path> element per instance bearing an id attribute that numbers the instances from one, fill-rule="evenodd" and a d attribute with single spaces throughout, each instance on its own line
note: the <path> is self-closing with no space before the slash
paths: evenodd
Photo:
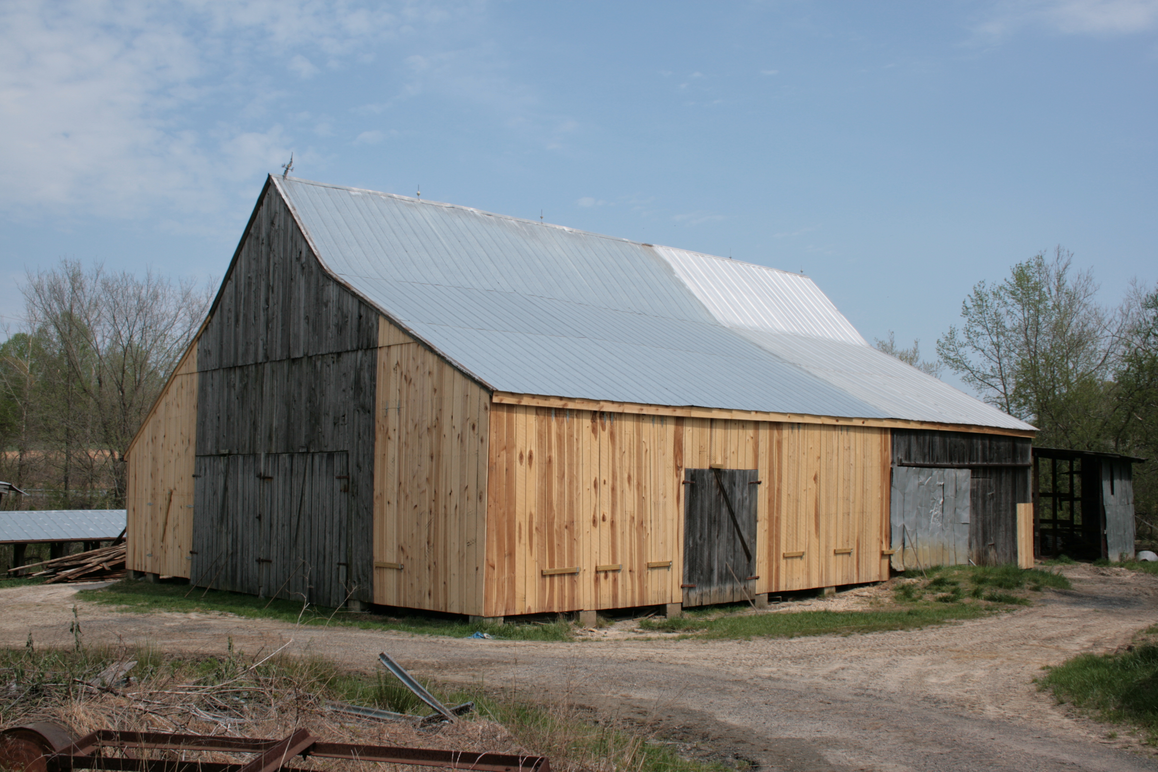
<path id="1" fill-rule="evenodd" d="M 1158 28 L 1158 0 L 1005 0 L 976 31 L 1004 38 L 1036 27 L 1065 35 L 1131 35 Z"/>

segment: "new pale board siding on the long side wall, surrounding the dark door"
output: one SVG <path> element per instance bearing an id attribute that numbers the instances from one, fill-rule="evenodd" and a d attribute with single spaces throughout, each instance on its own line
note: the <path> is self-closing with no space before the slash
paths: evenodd
<path id="1" fill-rule="evenodd" d="M 755 593 L 888 578 L 887 428 L 493 404 L 490 435 L 485 616 L 681 602 L 683 470 L 713 464 L 758 471 Z"/>

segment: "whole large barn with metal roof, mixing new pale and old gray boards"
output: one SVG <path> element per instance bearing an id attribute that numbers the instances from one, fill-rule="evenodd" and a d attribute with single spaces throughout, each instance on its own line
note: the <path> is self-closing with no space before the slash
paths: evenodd
<path id="1" fill-rule="evenodd" d="M 270 177 L 129 450 L 127 567 L 489 619 L 758 602 L 1032 559 L 1033 434 L 805 275 Z"/>

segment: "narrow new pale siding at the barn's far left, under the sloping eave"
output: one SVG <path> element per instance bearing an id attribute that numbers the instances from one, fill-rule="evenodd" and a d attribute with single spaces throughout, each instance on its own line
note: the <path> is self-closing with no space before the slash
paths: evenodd
<path id="1" fill-rule="evenodd" d="M 189 576 L 196 432 L 195 343 L 129 449 L 125 566 L 132 571 Z"/>

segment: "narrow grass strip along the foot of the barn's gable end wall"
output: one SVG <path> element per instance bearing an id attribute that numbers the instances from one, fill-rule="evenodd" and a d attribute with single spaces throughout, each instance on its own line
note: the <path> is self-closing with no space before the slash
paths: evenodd
<path id="1" fill-rule="evenodd" d="M 484 632 L 496 638 L 512 640 L 566 641 L 572 639 L 569 622 L 527 624 L 482 624 L 460 619 L 440 619 L 433 616 L 390 617 L 372 613 L 351 613 L 322 606 L 303 606 L 295 601 L 270 601 L 241 593 L 205 591 L 188 584 L 153 584 L 122 580 L 100 589 L 83 589 L 76 597 L 93 603 L 117 606 L 123 611 L 178 611 L 233 613 L 254 619 L 277 619 L 310 626 L 360 627 L 362 630 L 391 630 L 422 635 L 450 635 L 466 638 Z"/>

